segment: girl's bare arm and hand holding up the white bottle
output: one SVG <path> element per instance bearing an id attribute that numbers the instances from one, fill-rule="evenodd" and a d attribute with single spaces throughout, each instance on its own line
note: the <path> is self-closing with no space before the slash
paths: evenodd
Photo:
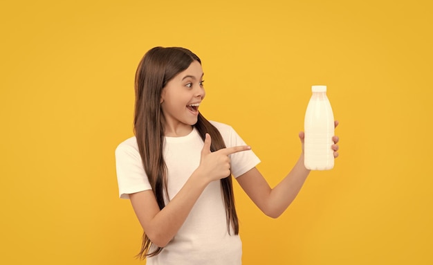
<path id="1" fill-rule="evenodd" d="M 338 121 L 335 121 L 337 127 Z M 275 188 L 270 188 L 256 167 L 237 177 L 239 185 L 257 207 L 269 217 L 277 218 L 291 205 L 310 173 L 304 166 L 304 133 L 300 133 L 302 154 L 287 176 Z M 333 136 L 334 157 L 338 157 L 338 137 Z"/>

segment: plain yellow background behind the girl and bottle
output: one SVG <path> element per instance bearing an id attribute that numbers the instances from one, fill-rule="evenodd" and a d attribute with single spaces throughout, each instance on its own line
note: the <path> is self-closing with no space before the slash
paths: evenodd
<path id="1" fill-rule="evenodd" d="M 252 145 L 271 185 L 300 154 L 312 84 L 340 120 L 335 168 L 279 219 L 235 185 L 244 264 L 432 264 L 432 13 L 427 0 L 3 1 L 0 263 L 140 263 L 114 149 L 132 136 L 142 55 L 184 46 L 203 60 L 202 113 Z"/>

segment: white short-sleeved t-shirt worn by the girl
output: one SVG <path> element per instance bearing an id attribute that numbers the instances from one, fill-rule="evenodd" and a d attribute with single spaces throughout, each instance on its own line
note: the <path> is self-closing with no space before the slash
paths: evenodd
<path id="1" fill-rule="evenodd" d="M 212 122 L 212 125 L 223 136 L 226 147 L 246 145 L 229 125 L 219 122 Z M 181 190 L 192 172 L 199 167 L 202 149 L 203 140 L 196 129 L 187 136 L 165 137 L 163 156 L 168 171 L 169 199 Z M 251 150 L 231 154 L 230 161 L 235 178 L 260 162 Z M 128 194 L 151 190 L 135 137 L 118 145 L 116 170 L 120 198 L 128 199 Z M 167 204 L 167 198 L 165 203 Z M 161 253 L 147 258 L 147 264 L 241 264 L 241 239 L 234 232 L 229 235 L 226 220 L 221 184 L 220 181 L 213 181 L 203 190 L 172 241 Z"/>

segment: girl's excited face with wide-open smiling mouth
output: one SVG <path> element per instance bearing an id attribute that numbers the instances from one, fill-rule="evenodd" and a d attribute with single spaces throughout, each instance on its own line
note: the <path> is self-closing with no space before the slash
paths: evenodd
<path id="1" fill-rule="evenodd" d="M 205 98 L 203 69 L 193 61 L 183 72 L 170 80 L 161 94 L 161 107 L 165 117 L 165 135 L 191 130 L 199 116 L 199 104 Z"/>

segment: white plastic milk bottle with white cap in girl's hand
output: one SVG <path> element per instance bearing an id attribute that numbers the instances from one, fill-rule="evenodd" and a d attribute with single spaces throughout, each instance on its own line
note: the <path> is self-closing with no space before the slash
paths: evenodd
<path id="1" fill-rule="evenodd" d="M 308 170 L 331 170 L 334 167 L 332 137 L 334 117 L 326 96 L 326 86 L 312 86 L 304 120 L 304 165 Z"/>

